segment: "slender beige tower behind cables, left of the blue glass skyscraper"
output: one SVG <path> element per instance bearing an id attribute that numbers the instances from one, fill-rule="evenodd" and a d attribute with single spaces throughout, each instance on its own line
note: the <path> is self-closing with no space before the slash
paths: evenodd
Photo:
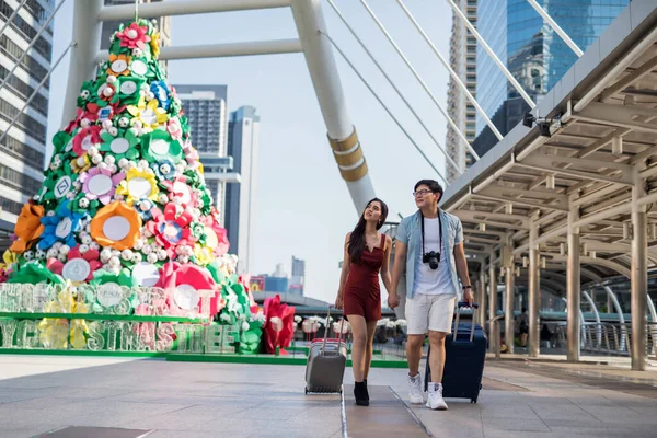
<path id="1" fill-rule="evenodd" d="M 476 26 L 477 0 L 457 0 L 456 2 L 468 18 L 468 21 Z M 452 21 L 449 60 L 451 68 L 465 84 L 468 91 L 476 97 L 476 38 L 458 16 L 454 16 Z M 468 141 L 474 141 L 476 136 L 476 110 L 452 78 L 449 80 L 447 104 L 447 113 L 450 118 L 465 135 Z M 451 183 L 459 177 L 459 172 L 462 173 L 473 163 L 473 157 L 465 149 L 465 145 L 463 145 L 463 140 L 457 131 L 449 125 L 447 127 L 447 153 L 459 166 L 457 170 L 449 162 L 446 164 L 447 181 Z"/>

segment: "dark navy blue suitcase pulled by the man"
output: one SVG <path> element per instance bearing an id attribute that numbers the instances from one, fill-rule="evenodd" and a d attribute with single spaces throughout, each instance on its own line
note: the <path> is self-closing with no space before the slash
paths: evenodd
<path id="1" fill-rule="evenodd" d="M 446 399 L 470 399 L 476 403 L 482 389 L 484 361 L 486 360 L 487 337 L 481 325 L 474 323 L 459 323 L 461 308 L 468 307 L 459 302 L 457 321 L 452 324 L 452 334 L 445 338 L 445 370 L 442 372 L 442 396 Z M 474 309 L 479 304 L 473 304 Z M 454 330 L 458 327 L 458 330 Z M 425 391 L 430 379 L 429 351 L 427 351 L 427 366 L 425 370 Z"/>

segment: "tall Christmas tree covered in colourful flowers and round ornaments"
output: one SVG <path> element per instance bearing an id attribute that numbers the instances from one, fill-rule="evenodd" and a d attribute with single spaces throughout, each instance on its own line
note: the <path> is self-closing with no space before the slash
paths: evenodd
<path id="1" fill-rule="evenodd" d="M 149 21 L 120 25 L 112 36 L 108 60 L 82 84 L 76 119 L 53 139 L 44 185 L 23 206 L 0 278 L 76 290 L 158 287 L 172 291 L 169 314 L 214 290 L 210 314 L 251 331 L 243 349 L 256 349 L 262 321 L 235 275 L 237 257 L 228 254 L 159 53 Z M 88 301 L 85 310 L 102 312 L 102 302 Z M 149 312 L 138 300 L 131 311 Z"/>

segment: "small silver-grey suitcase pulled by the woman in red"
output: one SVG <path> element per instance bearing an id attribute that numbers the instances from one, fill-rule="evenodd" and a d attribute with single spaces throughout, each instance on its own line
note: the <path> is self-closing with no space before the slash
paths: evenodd
<path id="1" fill-rule="evenodd" d="M 311 344 L 306 366 L 306 393 L 342 393 L 342 383 L 347 365 L 347 346 L 342 342 L 343 323 L 339 324 L 339 335 L 335 339 L 327 341 L 330 331 L 331 309 L 326 316 L 326 330 L 324 339 Z"/>

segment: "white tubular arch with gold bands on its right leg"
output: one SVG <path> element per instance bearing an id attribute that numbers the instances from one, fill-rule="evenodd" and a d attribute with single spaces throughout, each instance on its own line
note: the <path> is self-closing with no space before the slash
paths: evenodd
<path id="1" fill-rule="evenodd" d="M 169 0 L 139 7 L 141 16 L 160 18 L 209 12 L 286 8 L 292 10 L 298 39 L 210 44 L 165 47 L 162 59 L 215 58 L 303 53 L 326 125 L 328 143 L 341 176 L 346 182 L 358 211 L 374 197 L 367 161 L 351 123 L 330 43 L 321 36 L 326 31 L 321 0 Z M 74 0 L 73 44 L 70 73 L 62 117 L 74 118 L 76 101 L 82 82 L 94 76 L 100 51 L 101 26 L 106 20 L 130 20 L 132 4 L 106 7 L 103 0 Z"/>

